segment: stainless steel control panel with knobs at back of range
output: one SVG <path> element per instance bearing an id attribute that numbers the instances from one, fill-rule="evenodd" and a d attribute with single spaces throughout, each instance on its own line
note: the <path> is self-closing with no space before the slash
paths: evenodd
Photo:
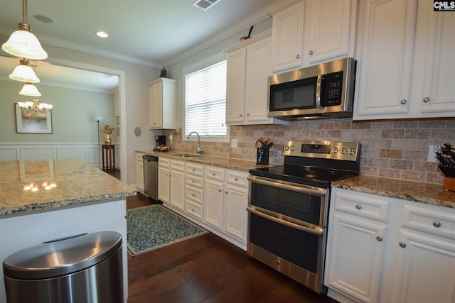
<path id="1" fill-rule="evenodd" d="M 284 156 L 358 161 L 360 143 L 334 141 L 284 141 Z"/>

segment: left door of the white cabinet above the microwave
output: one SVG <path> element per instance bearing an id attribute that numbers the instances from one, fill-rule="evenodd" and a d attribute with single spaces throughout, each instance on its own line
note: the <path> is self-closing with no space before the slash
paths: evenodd
<path id="1" fill-rule="evenodd" d="M 301 67 L 304 47 L 304 1 L 272 13 L 273 72 Z"/>

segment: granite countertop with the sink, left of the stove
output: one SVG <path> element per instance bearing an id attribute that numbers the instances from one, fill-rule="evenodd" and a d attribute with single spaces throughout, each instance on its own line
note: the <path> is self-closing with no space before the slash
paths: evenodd
<path id="1" fill-rule="evenodd" d="M 258 165 L 255 161 L 248 161 L 248 160 L 240 160 L 240 159 L 233 159 L 233 158 L 223 158 L 223 157 L 216 157 L 213 155 L 196 155 L 192 153 L 178 153 L 178 152 L 157 152 L 154 150 L 137 150 L 139 153 L 145 153 L 146 155 L 154 155 L 156 157 L 164 157 L 170 158 L 174 160 L 184 160 L 185 162 L 193 162 L 198 164 L 205 164 L 215 167 L 223 167 L 228 168 L 230 170 L 240 170 L 244 172 L 248 172 L 251 169 L 259 168 L 259 167 L 269 167 L 275 166 L 279 164 L 269 164 L 269 165 Z M 191 157 L 179 157 L 176 156 L 178 154 L 186 154 L 191 155 Z"/>

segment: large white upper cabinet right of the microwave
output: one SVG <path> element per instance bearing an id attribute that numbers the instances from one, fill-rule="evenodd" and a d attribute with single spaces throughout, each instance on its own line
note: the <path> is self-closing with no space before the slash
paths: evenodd
<path id="1" fill-rule="evenodd" d="M 353 119 L 455 116 L 454 32 L 433 1 L 360 1 Z"/>

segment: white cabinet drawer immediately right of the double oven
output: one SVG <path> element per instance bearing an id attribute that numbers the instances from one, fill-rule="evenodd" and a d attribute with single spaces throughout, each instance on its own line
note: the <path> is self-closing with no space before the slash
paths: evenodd
<path id="1" fill-rule="evenodd" d="M 343 211 L 355 216 L 361 216 L 367 219 L 373 219 L 380 222 L 389 220 L 390 202 L 378 196 L 355 192 L 353 194 L 343 189 L 333 190 L 335 195 L 336 211 Z"/>

